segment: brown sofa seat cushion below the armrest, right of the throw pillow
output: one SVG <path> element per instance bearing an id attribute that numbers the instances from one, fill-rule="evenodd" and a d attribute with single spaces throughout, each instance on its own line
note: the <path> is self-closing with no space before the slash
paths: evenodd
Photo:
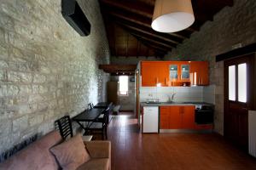
<path id="1" fill-rule="evenodd" d="M 108 170 L 110 160 L 108 158 L 95 158 L 85 162 L 77 170 Z"/>

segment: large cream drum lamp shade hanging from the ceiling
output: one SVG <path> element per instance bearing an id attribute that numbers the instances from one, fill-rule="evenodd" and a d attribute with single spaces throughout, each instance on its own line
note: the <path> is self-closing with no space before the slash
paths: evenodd
<path id="1" fill-rule="evenodd" d="M 195 21 L 191 0 L 156 0 L 152 28 L 160 32 L 182 31 Z"/>

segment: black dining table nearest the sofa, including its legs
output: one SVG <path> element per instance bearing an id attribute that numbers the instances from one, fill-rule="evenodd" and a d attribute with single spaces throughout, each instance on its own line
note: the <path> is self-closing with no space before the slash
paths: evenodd
<path id="1" fill-rule="evenodd" d="M 84 129 L 84 134 L 87 133 L 87 129 L 93 122 L 97 121 L 97 118 L 105 111 L 101 108 L 92 108 L 90 110 L 85 110 L 77 116 L 73 117 L 73 121 L 77 122 L 80 127 Z"/>

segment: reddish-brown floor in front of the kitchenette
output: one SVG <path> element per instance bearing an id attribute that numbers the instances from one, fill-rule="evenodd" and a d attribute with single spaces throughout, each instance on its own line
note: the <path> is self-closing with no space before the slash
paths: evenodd
<path id="1" fill-rule="evenodd" d="M 112 170 L 256 170 L 255 158 L 216 134 L 142 134 L 131 114 L 113 116 L 108 139 L 112 142 Z"/>

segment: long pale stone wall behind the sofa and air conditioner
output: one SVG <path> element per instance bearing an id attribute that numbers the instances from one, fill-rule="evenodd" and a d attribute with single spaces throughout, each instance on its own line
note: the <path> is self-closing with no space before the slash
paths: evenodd
<path id="1" fill-rule="evenodd" d="M 80 37 L 61 0 L 1 0 L 0 152 L 53 129 L 54 121 L 106 98 L 108 40 L 96 0 L 79 0 L 91 24 Z"/>

